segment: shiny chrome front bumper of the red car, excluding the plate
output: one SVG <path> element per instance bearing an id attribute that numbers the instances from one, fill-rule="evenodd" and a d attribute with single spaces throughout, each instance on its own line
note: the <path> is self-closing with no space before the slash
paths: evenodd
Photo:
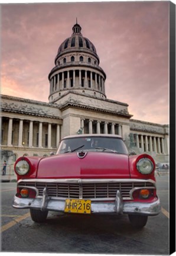
<path id="1" fill-rule="evenodd" d="M 19 198 L 14 196 L 12 206 L 17 209 L 39 209 L 64 212 L 65 200 L 48 197 L 47 191 L 43 191 L 43 197 L 35 199 Z M 155 216 L 161 212 L 159 198 L 151 203 L 141 203 L 136 201 L 123 201 L 118 190 L 115 201 L 94 201 L 91 202 L 91 213 L 115 213 L 115 214 L 137 214 Z"/>

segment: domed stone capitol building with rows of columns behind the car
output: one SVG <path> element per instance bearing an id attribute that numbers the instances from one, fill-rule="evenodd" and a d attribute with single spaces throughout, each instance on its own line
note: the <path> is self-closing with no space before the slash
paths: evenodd
<path id="1" fill-rule="evenodd" d="M 77 22 L 72 30 L 48 75 L 49 103 L 1 95 L 1 160 L 49 156 L 67 135 L 109 133 L 121 135 L 130 151 L 168 162 L 168 125 L 134 120 L 127 103 L 107 99 L 96 47 Z"/>

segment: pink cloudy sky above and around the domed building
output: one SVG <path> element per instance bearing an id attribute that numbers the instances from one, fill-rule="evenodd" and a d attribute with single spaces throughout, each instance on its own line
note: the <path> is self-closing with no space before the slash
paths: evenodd
<path id="1" fill-rule="evenodd" d="M 133 119 L 167 124 L 169 2 L 1 6 L 1 94 L 48 102 L 48 73 L 78 23 L 100 57 L 106 96 Z"/>

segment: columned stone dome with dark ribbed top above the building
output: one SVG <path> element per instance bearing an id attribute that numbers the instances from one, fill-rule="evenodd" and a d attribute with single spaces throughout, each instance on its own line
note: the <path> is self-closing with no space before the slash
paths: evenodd
<path id="1" fill-rule="evenodd" d="M 82 27 L 73 25 L 73 33 L 58 47 L 55 67 L 49 73 L 50 103 L 56 103 L 68 91 L 106 98 L 106 74 L 99 66 L 93 43 L 83 37 Z"/>

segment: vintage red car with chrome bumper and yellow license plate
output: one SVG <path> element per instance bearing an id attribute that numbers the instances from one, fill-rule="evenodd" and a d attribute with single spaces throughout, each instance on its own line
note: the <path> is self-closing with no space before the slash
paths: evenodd
<path id="1" fill-rule="evenodd" d="M 155 161 L 129 155 L 118 135 L 74 135 L 61 140 L 56 155 L 22 156 L 15 162 L 17 194 L 12 206 L 29 208 L 34 222 L 48 211 L 127 214 L 136 228 L 158 215 Z"/>

